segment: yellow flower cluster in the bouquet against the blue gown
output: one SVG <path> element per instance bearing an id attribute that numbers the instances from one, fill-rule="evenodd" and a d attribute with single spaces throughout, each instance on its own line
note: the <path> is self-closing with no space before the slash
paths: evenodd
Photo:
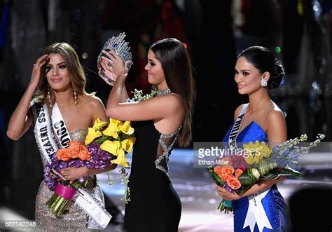
<path id="1" fill-rule="evenodd" d="M 249 155 L 244 158 L 249 165 L 259 163 L 264 157 L 270 157 L 272 152 L 265 142 L 260 143 L 257 140 L 255 143 L 249 142 L 248 144 L 244 144 L 243 147 L 244 151 Z"/>

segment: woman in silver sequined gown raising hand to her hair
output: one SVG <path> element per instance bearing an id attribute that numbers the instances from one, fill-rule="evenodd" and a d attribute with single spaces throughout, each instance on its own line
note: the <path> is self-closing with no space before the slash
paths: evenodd
<path id="1" fill-rule="evenodd" d="M 50 112 L 55 103 L 60 109 L 72 141 L 84 142 L 87 128 L 92 127 L 95 116 L 107 121 L 105 108 L 98 97 L 85 92 L 85 74 L 78 56 L 68 43 L 54 43 L 48 46 L 32 69 L 29 86 L 18 107 L 16 107 L 8 125 L 7 135 L 18 140 L 31 125 L 36 123 L 30 109 L 30 102 L 46 104 Z M 47 161 L 41 155 L 43 165 Z M 115 167 L 107 168 L 111 170 Z M 67 168 L 62 170 L 69 180 L 89 176 L 90 182 L 85 191 L 89 193 L 100 191 L 95 175 L 100 171 L 85 167 Z M 40 231 L 85 231 L 87 215 L 73 203 L 63 217 L 56 218 L 46 205 L 52 196 L 44 182 L 41 182 L 36 196 L 36 226 Z"/>

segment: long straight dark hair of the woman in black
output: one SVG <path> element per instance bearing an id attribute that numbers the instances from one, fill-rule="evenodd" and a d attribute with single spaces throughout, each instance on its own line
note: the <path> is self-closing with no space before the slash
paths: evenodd
<path id="1" fill-rule="evenodd" d="M 192 141 L 192 121 L 195 100 L 195 82 L 191 60 L 184 44 L 178 39 L 167 38 L 153 43 L 150 49 L 160 61 L 168 88 L 182 97 L 186 116 L 179 136 L 179 145 L 188 146 Z"/>

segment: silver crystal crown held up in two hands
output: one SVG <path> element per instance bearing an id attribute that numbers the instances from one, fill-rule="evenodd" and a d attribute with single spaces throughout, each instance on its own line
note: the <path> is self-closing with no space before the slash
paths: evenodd
<path id="1" fill-rule="evenodd" d="M 111 49 L 113 49 L 116 54 L 118 54 L 121 59 L 125 62 L 125 66 L 127 68 L 127 70 L 129 71 L 130 67 L 132 67 L 132 53 L 130 52 L 130 46 L 128 46 L 128 42 L 126 42 L 125 40 L 125 32 L 120 33 L 118 36 L 112 36 L 111 38 L 109 38 L 108 41 L 106 41 L 106 43 L 104 44 L 104 47 L 102 48 L 102 50 L 106 50 L 106 51 L 110 51 Z M 101 58 L 102 56 L 106 57 L 106 55 L 104 53 L 99 53 L 98 59 L 97 59 L 97 65 L 98 67 L 100 67 L 100 62 L 101 62 Z M 102 68 L 102 79 L 104 79 L 104 81 L 106 81 L 106 83 L 109 83 L 110 85 L 113 85 L 114 81 L 107 78 L 107 76 L 105 76 L 103 74 L 104 69 Z"/>

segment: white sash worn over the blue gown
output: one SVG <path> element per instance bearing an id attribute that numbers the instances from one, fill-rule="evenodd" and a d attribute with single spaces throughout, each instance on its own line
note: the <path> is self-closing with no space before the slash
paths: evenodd
<path id="1" fill-rule="evenodd" d="M 237 149 L 236 138 L 239 134 L 239 130 L 247 112 L 249 104 L 244 104 L 239 116 L 237 116 L 232 130 L 230 131 L 230 137 L 228 137 L 228 143 L 230 149 Z M 244 219 L 243 228 L 249 226 L 250 231 L 254 231 L 255 224 L 257 223 L 258 231 L 263 231 L 264 227 L 272 229 L 268 216 L 265 214 L 265 210 L 262 204 L 263 198 L 266 196 L 270 189 L 248 196 L 248 210 L 246 218 Z"/>

